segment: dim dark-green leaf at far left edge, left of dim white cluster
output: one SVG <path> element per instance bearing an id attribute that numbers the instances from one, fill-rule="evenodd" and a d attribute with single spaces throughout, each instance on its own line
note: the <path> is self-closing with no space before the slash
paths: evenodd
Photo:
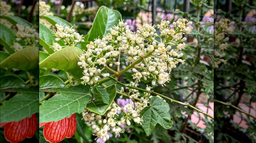
<path id="1" fill-rule="evenodd" d="M 9 53 L 14 53 L 14 49 L 11 48 L 13 41 L 16 40 L 15 33 L 6 25 L 0 23 L 0 44 L 3 45 Z"/>

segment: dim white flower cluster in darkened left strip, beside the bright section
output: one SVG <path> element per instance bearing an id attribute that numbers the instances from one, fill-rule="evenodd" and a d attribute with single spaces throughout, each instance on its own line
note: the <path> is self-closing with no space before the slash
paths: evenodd
<path id="1" fill-rule="evenodd" d="M 16 40 L 24 40 L 26 45 L 36 45 L 39 42 L 39 33 L 36 32 L 35 29 L 29 26 L 23 26 L 20 24 L 16 24 L 17 32 L 16 32 Z"/>

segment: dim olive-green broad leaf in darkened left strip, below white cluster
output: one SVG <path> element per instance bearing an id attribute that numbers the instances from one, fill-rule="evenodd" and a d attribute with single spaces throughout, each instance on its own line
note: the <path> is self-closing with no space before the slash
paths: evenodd
<path id="1" fill-rule="evenodd" d="M 38 47 L 26 47 L 15 52 L 0 63 L 2 68 L 19 69 L 31 72 L 35 78 L 38 78 Z"/>

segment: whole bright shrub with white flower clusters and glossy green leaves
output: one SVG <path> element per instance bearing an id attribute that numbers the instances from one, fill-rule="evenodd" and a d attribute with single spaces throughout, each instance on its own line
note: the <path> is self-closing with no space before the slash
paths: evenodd
<path id="1" fill-rule="evenodd" d="M 159 128 L 158 124 L 170 129 L 169 101 L 213 118 L 189 103 L 153 90 L 166 87 L 179 63 L 185 65 L 184 35 L 193 31 L 193 22 L 185 18 L 173 23 L 162 20 L 158 25 L 144 23 L 133 32 L 118 11 L 102 6 L 90 32 L 84 34 L 64 19 L 41 17 L 55 29 L 40 24 L 39 43 L 46 51 L 39 53 L 39 88 L 46 96 L 40 100 L 39 123 L 58 122 L 75 113 L 78 122 L 83 120 L 79 125 L 89 127 L 93 139 L 105 142 L 111 136 L 123 136 L 134 126 L 142 127 L 147 136 Z M 128 82 L 120 82 L 122 76 L 129 78 Z M 143 83 L 147 85 L 140 88 Z M 88 140 L 83 132 L 78 133 Z"/>

